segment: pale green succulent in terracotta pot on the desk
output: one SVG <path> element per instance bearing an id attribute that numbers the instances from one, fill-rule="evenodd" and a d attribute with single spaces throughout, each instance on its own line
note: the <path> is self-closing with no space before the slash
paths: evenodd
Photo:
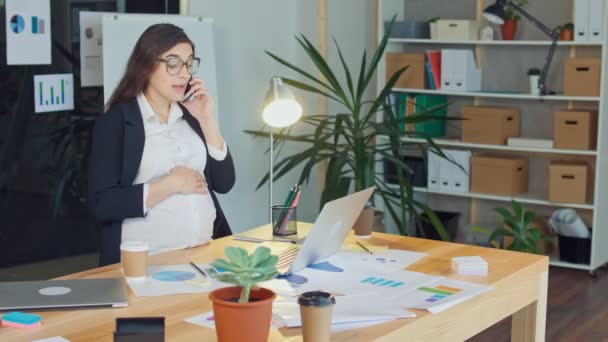
<path id="1" fill-rule="evenodd" d="M 266 341 L 272 320 L 275 293 L 257 288 L 259 282 L 277 276 L 276 255 L 258 247 L 249 255 L 240 247 L 226 247 L 228 260 L 216 259 L 211 277 L 236 286 L 209 293 L 213 303 L 215 331 L 219 341 Z"/>

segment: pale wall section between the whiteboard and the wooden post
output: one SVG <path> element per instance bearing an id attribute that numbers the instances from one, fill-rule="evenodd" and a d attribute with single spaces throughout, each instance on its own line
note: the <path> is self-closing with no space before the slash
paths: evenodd
<path id="1" fill-rule="evenodd" d="M 190 15 L 214 18 L 217 60 L 219 113 L 222 134 L 234 156 L 237 168 L 235 188 L 220 196 L 222 207 L 235 232 L 268 222 L 268 185 L 255 190 L 269 170 L 268 139 L 253 139 L 245 129 L 264 127 L 261 104 L 273 75 L 291 75 L 268 57 L 271 51 L 296 64 L 304 60 L 296 51 L 298 32 L 316 36 L 314 2 L 295 0 L 190 1 Z M 293 76 L 293 75 L 291 75 Z M 315 108 L 301 93 L 305 112 Z M 286 146 L 281 155 L 298 151 Z M 278 160 L 278 159 L 277 159 Z M 274 183 L 275 203 L 284 200 L 299 173 L 289 174 Z M 313 177 L 305 187 L 298 219 L 312 220 L 318 210 L 318 181 Z"/>

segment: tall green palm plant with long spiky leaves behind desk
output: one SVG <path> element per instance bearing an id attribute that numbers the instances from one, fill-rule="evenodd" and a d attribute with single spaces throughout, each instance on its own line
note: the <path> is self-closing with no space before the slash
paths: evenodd
<path id="1" fill-rule="evenodd" d="M 393 18 L 393 22 L 394 20 Z M 322 205 L 327 201 L 346 195 L 351 185 L 354 185 L 355 191 L 376 186 L 376 194 L 382 198 L 385 209 L 397 223 L 401 234 L 410 235 L 413 233 L 413 230 L 407 229 L 407 226 L 413 227 L 408 223 L 416 223 L 418 220 L 422 220 L 421 213 L 425 213 L 441 238 L 449 240 L 449 234 L 445 231 L 435 213 L 424 203 L 414 199 L 412 184 L 408 177 L 404 176 L 404 173 L 411 173 L 412 171 L 400 158 L 406 143 L 402 139 L 399 126 L 404 123 L 413 124 L 445 120 L 446 118 L 435 115 L 435 112 L 443 109 L 444 106 L 420 110 L 416 114 L 405 118 L 397 117 L 395 114 L 397 104 L 390 104 L 387 100 L 395 83 L 407 67 L 395 72 L 375 99 L 364 99 L 364 94 L 371 84 L 378 63 L 384 55 L 391 28 L 392 23 L 369 64 L 367 63 L 366 52 L 363 53 L 356 83 L 355 75 L 351 73 L 345 62 L 335 38 L 334 43 L 346 79 L 345 84 L 344 81 L 338 80 L 336 73 L 330 68 L 325 58 L 304 35 L 296 37 L 296 39 L 321 73 L 323 79 L 315 77 L 302 68 L 266 51 L 275 61 L 309 81 L 304 83 L 283 77 L 283 82 L 303 91 L 327 97 L 346 109 L 345 112 L 335 115 L 304 115 L 300 119 L 300 123 L 312 127 L 310 133 L 295 134 L 292 133 L 291 127 L 275 133 L 274 141 L 278 149 L 286 142 L 308 145 L 305 150 L 284 157 L 276 163 L 275 179 L 297 167 L 302 167 L 299 182 L 308 182 L 313 167 L 321 162 L 326 162 L 325 187 L 321 196 Z M 379 113 L 380 115 L 384 113 L 384 120 L 377 120 Z M 254 136 L 268 137 L 269 135 L 264 131 L 246 132 Z M 434 153 L 446 157 L 428 135 L 424 133 L 411 134 L 426 139 Z M 422 148 L 422 145 L 418 146 Z M 375 172 L 376 164 L 382 160 L 388 160 L 395 164 L 399 184 L 387 184 L 383 175 Z M 269 174 L 266 174 L 258 188 L 264 185 L 268 178 Z"/>

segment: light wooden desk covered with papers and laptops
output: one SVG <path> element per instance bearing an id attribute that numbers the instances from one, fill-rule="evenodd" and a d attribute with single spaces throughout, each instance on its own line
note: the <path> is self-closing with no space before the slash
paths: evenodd
<path id="1" fill-rule="evenodd" d="M 310 225 L 300 223 L 298 228 L 305 231 Z M 260 227 L 248 235 L 270 237 L 270 227 Z M 353 236 L 348 239 L 352 240 Z M 546 257 L 377 233 L 367 243 L 428 253 L 408 269 L 487 284 L 494 289 L 437 315 L 413 310 L 418 315 L 416 318 L 342 332 L 335 334 L 332 341 L 462 341 L 509 316 L 513 320 L 513 341 L 544 341 L 549 267 Z M 190 250 L 155 255 L 151 257 L 151 264 L 183 264 L 189 259 L 210 262 L 223 256 L 224 247 L 228 245 L 251 247 L 252 244 L 228 237 Z M 464 277 L 451 272 L 451 257 L 469 255 L 480 255 L 488 261 L 488 276 Z M 63 279 L 117 277 L 120 274 L 120 265 L 116 264 Z M 130 292 L 127 308 L 38 312 L 42 315 L 42 328 L 33 331 L 0 328 L 0 341 L 31 341 L 51 336 L 63 336 L 73 342 L 111 341 L 115 319 L 132 316 L 165 316 L 168 341 L 215 340 L 215 331 L 184 322 L 185 318 L 209 310 L 211 303 L 206 293 L 138 298 Z M 300 329 L 272 332 L 270 340 L 299 341 Z"/>

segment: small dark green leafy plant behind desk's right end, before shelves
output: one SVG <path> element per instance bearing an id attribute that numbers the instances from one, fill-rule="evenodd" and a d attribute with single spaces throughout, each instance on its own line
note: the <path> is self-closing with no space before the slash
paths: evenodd
<path id="1" fill-rule="evenodd" d="M 495 208 L 503 220 L 502 227 L 491 232 L 485 228 L 475 227 L 472 231 L 483 232 L 489 235 L 488 243 L 495 247 L 517 251 L 541 254 L 541 242 L 548 241 L 553 243 L 554 239 L 549 235 L 544 235 L 535 223 L 536 213 L 525 210 L 516 201 L 511 202 L 512 212 L 506 208 Z"/>

